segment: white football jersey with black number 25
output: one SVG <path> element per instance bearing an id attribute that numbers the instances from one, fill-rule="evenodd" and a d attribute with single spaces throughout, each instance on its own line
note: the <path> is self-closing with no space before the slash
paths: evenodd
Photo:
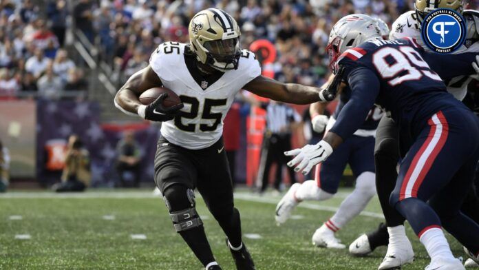
<path id="1" fill-rule="evenodd" d="M 253 52 L 242 50 L 237 70 L 226 70 L 209 85 L 208 80 L 200 79 L 197 67 L 188 67 L 185 62 L 185 57 L 194 57 L 184 55 L 186 46 L 177 42 L 162 43 L 149 60 L 163 86 L 178 94 L 184 104 L 178 116 L 162 123 L 161 134 L 175 145 L 204 149 L 220 139 L 223 120 L 235 94 L 261 75 L 261 67 Z"/>

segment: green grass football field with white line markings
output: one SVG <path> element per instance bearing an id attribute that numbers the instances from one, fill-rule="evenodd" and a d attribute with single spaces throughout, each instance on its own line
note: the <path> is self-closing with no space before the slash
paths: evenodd
<path id="1" fill-rule="evenodd" d="M 281 227 L 275 225 L 273 216 L 279 196 L 259 197 L 246 190 L 238 191 L 235 204 L 242 214 L 243 233 L 261 236 L 244 238 L 257 269 L 376 269 L 385 248 L 376 249 L 367 258 L 354 258 L 347 250 L 319 249 L 310 242 L 315 229 L 332 215 L 334 207 L 339 206 L 349 191 L 341 189 L 326 202 L 303 203 L 294 213 L 297 219 L 288 220 Z M 197 202 L 217 261 L 223 269 L 234 269 L 224 245 L 224 234 L 202 200 Z M 349 244 L 382 220 L 377 217 L 381 213 L 377 198 L 366 211 L 367 216 L 358 216 L 337 233 L 343 242 Z M 410 227 L 407 233 L 416 261 L 403 269 L 424 269 L 429 262 L 427 253 Z M 30 239 L 16 238 L 25 234 Z M 143 234 L 146 239 L 132 239 L 132 234 Z M 456 256 L 464 256 L 456 240 L 449 237 L 449 243 Z M 153 197 L 151 190 L 61 195 L 11 191 L 0 194 L 0 269 L 202 269 L 202 266 L 175 233 L 162 199 Z"/>

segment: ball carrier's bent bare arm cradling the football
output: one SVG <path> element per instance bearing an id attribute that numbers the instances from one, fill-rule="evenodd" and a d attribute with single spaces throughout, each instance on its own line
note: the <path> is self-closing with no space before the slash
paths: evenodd
<path id="1" fill-rule="evenodd" d="M 116 92 L 115 106 L 123 112 L 138 114 L 138 108 L 142 105 L 138 96 L 142 92 L 153 87 L 160 87 L 162 82 L 150 65 L 129 77 L 123 87 Z"/>

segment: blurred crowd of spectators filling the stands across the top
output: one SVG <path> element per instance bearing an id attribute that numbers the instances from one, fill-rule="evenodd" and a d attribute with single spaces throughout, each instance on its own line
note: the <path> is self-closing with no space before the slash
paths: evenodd
<path id="1" fill-rule="evenodd" d="M 389 25 L 412 9 L 406 0 L 6 0 L 0 3 L 0 94 L 38 91 L 54 97 L 62 90 L 83 90 L 83 70 L 69 59 L 65 32 L 72 16 L 87 39 L 99 45 L 118 85 L 147 65 L 163 41 L 188 41 L 188 23 L 204 8 L 233 14 L 242 29 L 243 48 L 268 39 L 278 50 L 276 79 L 321 84 L 328 73 L 325 45 L 332 25 L 361 12 Z M 71 5 L 71 6 L 69 6 Z M 475 8 L 471 1 L 468 8 Z"/>

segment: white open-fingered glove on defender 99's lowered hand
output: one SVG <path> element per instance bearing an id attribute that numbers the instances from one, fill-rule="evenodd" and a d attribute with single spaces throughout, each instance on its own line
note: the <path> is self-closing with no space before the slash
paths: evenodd
<path id="1" fill-rule="evenodd" d="M 299 172 L 299 170 L 302 169 L 302 174 L 308 174 L 313 166 L 323 162 L 332 154 L 332 147 L 329 143 L 320 141 L 316 145 L 305 145 L 301 149 L 293 149 L 284 152 L 284 154 L 286 156 L 295 156 L 295 158 L 288 162 L 289 167 L 299 163 L 299 165 L 295 167 L 295 172 Z"/>

